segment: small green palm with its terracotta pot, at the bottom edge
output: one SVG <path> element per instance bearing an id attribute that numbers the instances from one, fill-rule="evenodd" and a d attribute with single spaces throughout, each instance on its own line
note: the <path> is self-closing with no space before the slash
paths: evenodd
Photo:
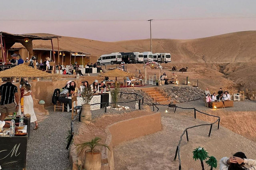
<path id="1" fill-rule="evenodd" d="M 100 170 L 101 169 L 101 151 L 98 149 L 100 146 L 109 147 L 104 144 L 100 144 L 101 138 L 95 137 L 89 142 L 80 143 L 77 145 L 78 153 L 85 152 L 85 162 L 83 166 L 86 170 Z M 89 149 L 87 149 L 89 148 Z M 87 149 L 87 150 L 86 150 Z"/>

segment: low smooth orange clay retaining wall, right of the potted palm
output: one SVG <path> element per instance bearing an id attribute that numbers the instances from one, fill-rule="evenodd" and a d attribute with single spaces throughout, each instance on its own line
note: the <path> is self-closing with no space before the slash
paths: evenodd
<path id="1" fill-rule="evenodd" d="M 102 150 L 101 169 L 114 170 L 113 147 L 119 145 L 121 142 L 155 133 L 161 129 L 161 113 L 132 118 L 107 126 L 105 129 L 107 133 L 105 144 L 110 147 L 110 151 L 106 148 Z"/>

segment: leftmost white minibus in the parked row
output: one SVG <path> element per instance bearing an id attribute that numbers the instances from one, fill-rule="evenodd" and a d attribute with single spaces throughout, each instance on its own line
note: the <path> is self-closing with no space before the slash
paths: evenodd
<path id="1" fill-rule="evenodd" d="M 120 53 L 103 54 L 99 57 L 97 65 L 120 64 L 122 55 Z"/>

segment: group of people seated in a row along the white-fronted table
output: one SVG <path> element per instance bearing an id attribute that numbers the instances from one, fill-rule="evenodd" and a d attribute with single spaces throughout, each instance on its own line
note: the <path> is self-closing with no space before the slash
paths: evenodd
<path id="1" fill-rule="evenodd" d="M 66 86 L 62 88 L 63 90 L 60 92 L 58 100 L 61 103 L 68 104 L 71 111 L 72 100 L 68 97 L 72 95 L 79 95 L 79 93 L 83 92 L 84 88 L 91 88 L 91 91 L 94 94 L 97 94 L 97 92 L 99 92 L 100 90 L 107 90 L 107 87 L 103 81 L 99 83 L 98 80 L 94 80 L 91 85 L 88 83 L 88 81 L 83 81 L 81 82 L 81 86 L 79 88 L 76 87 L 75 81 L 68 81 Z"/>

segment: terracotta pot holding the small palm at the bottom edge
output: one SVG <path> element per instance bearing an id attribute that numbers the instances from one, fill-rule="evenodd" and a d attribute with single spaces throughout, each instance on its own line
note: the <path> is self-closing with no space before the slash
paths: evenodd
<path id="1" fill-rule="evenodd" d="M 101 169 L 101 152 L 86 151 L 84 168 L 86 170 L 100 170 Z"/>

